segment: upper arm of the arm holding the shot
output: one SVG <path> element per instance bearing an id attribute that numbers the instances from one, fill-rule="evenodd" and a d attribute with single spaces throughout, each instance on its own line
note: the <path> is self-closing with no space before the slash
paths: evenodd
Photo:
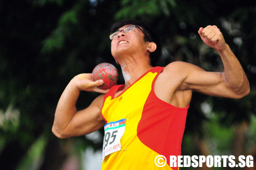
<path id="1" fill-rule="evenodd" d="M 76 112 L 64 133 L 68 136 L 80 136 L 90 134 L 103 127 L 105 124 L 101 115 L 103 98 L 103 95 L 99 96 L 86 109 Z"/>

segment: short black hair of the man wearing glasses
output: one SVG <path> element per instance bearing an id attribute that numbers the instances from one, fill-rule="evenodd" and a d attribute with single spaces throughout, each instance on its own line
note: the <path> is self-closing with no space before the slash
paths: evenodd
<path id="1" fill-rule="evenodd" d="M 123 27 L 124 25 L 130 25 L 130 24 L 140 26 L 143 29 L 144 33 L 146 34 L 146 36 L 144 36 L 144 41 L 151 41 L 157 44 L 157 49 L 154 52 L 149 53 L 149 57 L 151 59 L 151 65 L 155 66 L 157 64 L 158 59 L 162 55 L 162 44 L 155 30 L 153 30 L 149 25 L 146 25 L 141 21 L 126 19 L 113 24 L 110 29 L 110 34 L 116 32 L 116 30 L 118 30 L 120 27 Z"/>

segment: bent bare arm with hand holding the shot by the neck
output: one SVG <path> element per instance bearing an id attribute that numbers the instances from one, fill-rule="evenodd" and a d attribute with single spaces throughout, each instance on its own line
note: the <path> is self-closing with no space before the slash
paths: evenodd
<path id="1" fill-rule="evenodd" d="M 101 117 L 103 95 L 96 98 L 86 109 L 77 111 L 76 101 L 80 90 L 105 93 L 99 89 L 102 81 L 91 81 L 91 74 L 80 74 L 66 86 L 55 110 L 52 132 L 59 138 L 85 135 L 100 129 L 104 124 Z"/>

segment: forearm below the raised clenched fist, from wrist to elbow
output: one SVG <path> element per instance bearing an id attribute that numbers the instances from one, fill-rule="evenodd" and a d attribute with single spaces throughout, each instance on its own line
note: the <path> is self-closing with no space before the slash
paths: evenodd
<path id="1" fill-rule="evenodd" d="M 218 51 L 224 65 L 226 82 L 236 93 L 246 93 L 249 90 L 249 81 L 243 67 L 230 49 L 229 45 Z"/>

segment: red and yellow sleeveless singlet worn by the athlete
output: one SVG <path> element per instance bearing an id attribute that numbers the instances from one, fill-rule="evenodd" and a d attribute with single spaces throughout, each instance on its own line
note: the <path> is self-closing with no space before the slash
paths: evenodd
<path id="1" fill-rule="evenodd" d="M 111 143 L 107 150 L 114 150 L 105 155 L 102 169 L 178 169 L 170 168 L 169 156 L 181 154 L 188 107 L 172 106 L 155 95 L 154 82 L 162 70 L 152 68 L 118 97 L 115 93 L 124 85 L 112 87 L 105 95 L 104 147 Z M 155 165 L 158 155 L 167 158 L 162 168 Z"/>

